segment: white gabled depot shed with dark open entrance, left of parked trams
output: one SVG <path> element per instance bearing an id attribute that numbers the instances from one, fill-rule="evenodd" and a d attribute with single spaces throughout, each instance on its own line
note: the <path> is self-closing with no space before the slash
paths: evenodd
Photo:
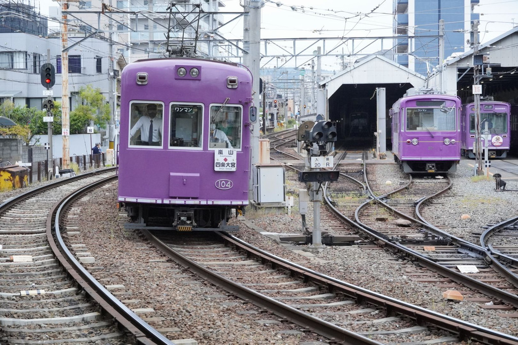
<path id="1" fill-rule="evenodd" d="M 421 74 L 383 55 L 369 55 L 321 86 L 325 86 L 326 91 L 327 118 L 336 122 L 338 140 L 349 141 L 348 147 L 352 147 L 365 146 L 375 140 L 378 88 L 385 89 L 383 109 L 387 117 L 392 104 L 409 88 L 424 84 L 425 77 Z M 390 128 L 389 118 L 380 130 L 387 128 Z"/>

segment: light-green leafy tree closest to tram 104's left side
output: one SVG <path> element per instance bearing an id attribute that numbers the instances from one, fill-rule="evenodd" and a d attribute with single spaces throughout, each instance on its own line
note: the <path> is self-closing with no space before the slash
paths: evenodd
<path id="1" fill-rule="evenodd" d="M 106 128 L 110 119 L 110 105 L 100 93 L 99 88 L 92 85 L 82 86 L 79 89 L 82 104 L 70 112 L 70 134 L 86 133 L 91 122 L 100 128 Z"/>

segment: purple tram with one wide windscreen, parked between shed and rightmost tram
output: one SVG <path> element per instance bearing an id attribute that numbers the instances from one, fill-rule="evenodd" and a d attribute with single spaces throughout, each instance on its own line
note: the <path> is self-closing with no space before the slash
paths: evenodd
<path id="1" fill-rule="evenodd" d="M 394 160 L 405 173 L 452 173 L 461 160 L 461 99 L 414 91 L 397 100 L 392 117 Z"/>

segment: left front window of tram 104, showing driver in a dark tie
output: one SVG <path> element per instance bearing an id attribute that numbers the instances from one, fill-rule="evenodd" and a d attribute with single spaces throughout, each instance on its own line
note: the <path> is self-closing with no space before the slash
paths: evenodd
<path id="1" fill-rule="evenodd" d="M 130 109 L 130 145 L 162 146 L 164 107 L 160 103 L 133 102 Z"/>

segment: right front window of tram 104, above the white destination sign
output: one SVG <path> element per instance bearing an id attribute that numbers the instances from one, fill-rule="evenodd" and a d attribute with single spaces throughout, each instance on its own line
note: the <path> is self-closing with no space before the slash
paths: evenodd
<path id="1" fill-rule="evenodd" d="M 211 106 L 210 118 L 209 148 L 241 148 L 241 107 Z"/>

